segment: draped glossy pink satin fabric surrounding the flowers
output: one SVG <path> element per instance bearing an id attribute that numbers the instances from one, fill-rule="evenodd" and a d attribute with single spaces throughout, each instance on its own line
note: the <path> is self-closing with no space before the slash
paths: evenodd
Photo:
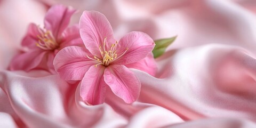
<path id="1" fill-rule="evenodd" d="M 106 15 L 115 37 L 132 30 L 153 39 L 178 35 L 156 59 L 156 77 L 131 69 L 139 99 L 127 104 L 107 89 L 87 106 L 79 82 L 34 70 L 8 71 L 30 22 L 42 24 L 62 3 Z M 0 1 L 0 127 L 256 127 L 256 2 Z"/>

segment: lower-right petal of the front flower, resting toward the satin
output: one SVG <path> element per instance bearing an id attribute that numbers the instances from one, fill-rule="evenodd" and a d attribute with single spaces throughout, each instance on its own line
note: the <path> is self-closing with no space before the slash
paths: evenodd
<path id="1" fill-rule="evenodd" d="M 126 103 L 132 103 L 140 95 L 141 83 L 137 76 L 125 66 L 110 65 L 105 69 L 104 81 L 111 90 Z"/>

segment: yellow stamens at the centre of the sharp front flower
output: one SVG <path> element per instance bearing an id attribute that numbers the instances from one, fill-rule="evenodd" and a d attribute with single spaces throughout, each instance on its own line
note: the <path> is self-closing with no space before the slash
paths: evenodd
<path id="1" fill-rule="evenodd" d="M 105 48 L 105 45 L 106 45 L 106 37 L 104 38 L 104 43 L 103 43 L 103 51 L 101 49 L 101 46 L 99 46 L 99 50 L 100 50 L 100 53 L 101 53 L 101 57 L 102 59 L 99 59 L 98 57 L 96 57 L 94 55 L 93 58 L 90 58 L 88 55 L 87 55 L 87 58 L 91 59 L 91 60 L 95 60 L 95 61 L 98 61 L 98 63 L 95 65 L 95 67 L 97 67 L 98 65 L 103 65 L 103 66 L 109 66 L 109 64 L 111 62 L 113 62 L 114 60 L 117 60 L 119 58 L 121 58 L 125 53 L 126 51 L 128 50 L 128 48 L 125 49 L 124 53 L 122 53 L 121 55 L 118 55 L 117 54 L 117 50 L 116 50 L 116 46 L 118 44 L 118 42 L 116 42 L 115 44 L 111 44 L 111 47 L 110 47 L 110 50 L 106 50 Z"/>

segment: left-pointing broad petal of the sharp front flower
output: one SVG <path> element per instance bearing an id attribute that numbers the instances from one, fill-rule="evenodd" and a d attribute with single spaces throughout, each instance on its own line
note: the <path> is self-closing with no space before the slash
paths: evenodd
<path id="1" fill-rule="evenodd" d="M 92 55 L 88 50 L 79 46 L 68 46 L 60 50 L 53 65 L 55 70 L 66 80 L 81 80 L 86 71 L 97 61 L 88 59 L 86 55 Z"/>

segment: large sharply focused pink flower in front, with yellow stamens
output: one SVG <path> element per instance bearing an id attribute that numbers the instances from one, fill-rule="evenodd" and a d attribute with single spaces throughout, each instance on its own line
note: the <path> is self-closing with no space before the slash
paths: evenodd
<path id="1" fill-rule="evenodd" d="M 133 31 L 117 42 L 105 15 L 94 11 L 84 11 L 79 28 L 85 47 L 62 49 L 54 59 L 55 70 L 66 80 L 82 79 L 80 95 L 91 105 L 104 102 L 107 85 L 126 103 L 137 100 L 141 83 L 126 65 L 137 69 L 145 69 L 147 65 L 155 68 L 151 55 L 155 46 L 153 39 Z"/>

